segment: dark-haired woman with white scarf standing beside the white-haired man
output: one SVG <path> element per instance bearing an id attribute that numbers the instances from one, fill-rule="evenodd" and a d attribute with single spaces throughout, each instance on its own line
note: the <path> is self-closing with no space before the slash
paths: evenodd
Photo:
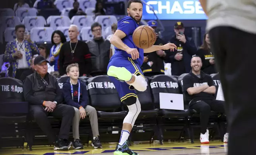
<path id="1" fill-rule="evenodd" d="M 54 66 L 54 72 L 58 72 L 58 59 L 60 48 L 65 43 L 66 37 L 60 30 L 56 30 L 52 33 L 52 48 L 50 49 L 50 66 Z"/>

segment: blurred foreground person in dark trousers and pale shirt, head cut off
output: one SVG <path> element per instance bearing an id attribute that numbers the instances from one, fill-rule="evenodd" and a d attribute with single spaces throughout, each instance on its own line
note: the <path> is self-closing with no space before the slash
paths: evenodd
<path id="1" fill-rule="evenodd" d="M 200 0 L 215 54 L 229 123 L 228 155 L 256 150 L 256 1 Z"/>

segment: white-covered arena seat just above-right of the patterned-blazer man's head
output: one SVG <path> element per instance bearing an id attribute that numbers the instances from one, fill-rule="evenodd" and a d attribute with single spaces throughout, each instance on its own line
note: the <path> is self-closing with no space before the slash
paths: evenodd
<path id="1" fill-rule="evenodd" d="M 27 30 L 31 30 L 33 27 L 44 27 L 47 23 L 43 16 L 26 16 L 24 17 L 22 24 L 24 24 Z"/>

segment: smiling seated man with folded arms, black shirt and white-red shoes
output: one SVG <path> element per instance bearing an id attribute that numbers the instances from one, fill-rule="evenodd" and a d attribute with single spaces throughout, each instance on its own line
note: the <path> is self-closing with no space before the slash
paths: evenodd
<path id="1" fill-rule="evenodd" d="M 189 102 L 189 108 L 200 113 L 202 144 L 209 144 L 209 130 L 207 129 L 211 110 L 225 113 L 224 101 L 215 100 L 216 88 L 210 75 L 201 71 L 202 60 L 195 55 L 191 59 L 192 71 L 183 78 L 183 90 Z M 228 133 L 224 135 L 223 142 L 228 141 Z"/>

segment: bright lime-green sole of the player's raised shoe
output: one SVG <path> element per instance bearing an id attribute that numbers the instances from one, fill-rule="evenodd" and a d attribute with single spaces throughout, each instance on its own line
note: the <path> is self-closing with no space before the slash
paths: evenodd
<path id="1" fill-rule="evenodd" d="M 132 79 L 131 72 L 124 67 L 110 66 L 107 74 L 108 76 L 113 76 L 124 81 L 130 81 Z"/>

